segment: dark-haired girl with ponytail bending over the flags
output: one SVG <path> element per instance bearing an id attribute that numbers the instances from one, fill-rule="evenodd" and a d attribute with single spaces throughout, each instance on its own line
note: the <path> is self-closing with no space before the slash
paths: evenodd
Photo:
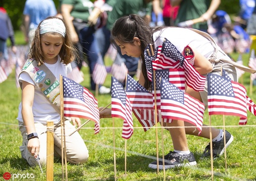
<path id="1" fill-rule="evenodd" d="M 202 32 L 203 33 L 203 32 Z M 153 48 L 163 44 L 164 39 L 168 39 L 178 51 L 182 52 L 184 47 L 190 45 L 194 51 L 194 68 L 203 76 L 208 73 L 220 74 L 223 67 L 230 78 L 237 81 L 236 67 L 223 62 L 232 61 L 221 49 L 216 50 L 212 41 L 196 33 L 193 30 L 178 27 L 158 27 L 152 28 L 138 15 L 129 15 L 119 18 L 112 28 L 111 42 L 116 48 L 121 48 L 122 54 L 133 57 L 141 57 L 142 71 L 138 82 L 147 90 L 151 90 L 151 82 L 147 78 L 144 50 L 148 44 L 152 44 Z M 181 41 L 182 40 L 182 41 Z M 217 51 L 217 52 L 216 52 Z M 220 61 L 218 61 L 218 60 Z M 186 87 L 186 93 L 195 99 L 208 105 L 208 88 L 207 82 L 204 91 L 196 92 L 190 87 Z M 102 110 L 100 107 L 99 110 Z M 100 118 L 110 118 L 111 109 L 105 109 L 99 112 Z M 165 156 L 165 168 L 173 168 L 182 165 L 196 165 L 196 160 L 192 152 L 189 151 L 187 145 L 186 134 L 198 136 L 198 130 L 190 128 L 191 124 L 172 120 L 172 123 L 166 123 L 172 138 L 174 151 L 170 151 Z M 212 143 L 214 159 L 224 152 L 224 130 L 212 129 Z M 201 134 L 203 138 L 210 139 L 210 127 L 204 125 Z M 226 147 L 233 141 L 233 136 L 225 132 Z M 171 142 L 171 141 L 170 141 Z M 171 146 L 170 146 L 171 147 Z M 204 150 L 202 158 L 210 157 L 210 143 Z M 162 160 L 162 159 L 159 159 Z M 157 169 L 157 161 L 148 165 L 150 168 Z M 159 168 L 163 169 L 163 161 L 159 161 Z"/>

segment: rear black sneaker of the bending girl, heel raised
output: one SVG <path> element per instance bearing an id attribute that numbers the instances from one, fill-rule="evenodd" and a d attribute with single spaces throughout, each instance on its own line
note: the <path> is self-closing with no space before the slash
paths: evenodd
<path id="1" fill-rule="evenodd" d="M 227 149 L 230 143 L 232 143 L 234 137 L 228 131 L 225 132 L 225 135 L 226 135 L 226 149 Z M 224 150 L 225 150 L 224 136 L 220 141 L 213 141 L 213 159 L 216 159 L 219 156 L 221 156 Z M 204 149 L 204 152 L 201 156 L 201 158 L 205 158 L 205 157 L 211 157 L 210 143 L 209 145 L 206 146 L 206 149 Z"/>

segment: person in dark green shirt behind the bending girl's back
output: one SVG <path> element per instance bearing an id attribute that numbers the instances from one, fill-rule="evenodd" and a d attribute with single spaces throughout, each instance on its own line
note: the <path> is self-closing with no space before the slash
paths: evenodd
<path id="1" fill-rule="evenodd" d="M 175 25 L 180 22 L 199 18 L 199 23 L 193 24 L 189 28 L 207 32 L 207 21 L 212 18 L 220 4 L 221 0 L 172 0 L 171 5 L 173 7 L 180 7 Z"/>

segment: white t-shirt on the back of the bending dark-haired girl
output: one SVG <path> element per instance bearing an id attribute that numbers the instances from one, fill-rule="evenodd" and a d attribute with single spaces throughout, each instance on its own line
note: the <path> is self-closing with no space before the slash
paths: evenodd
<path id="1" fill-rule="evenodd" d="M 155 41 L 155 47 L 162 46 L 165 38 L 168 39 L 179 52 L 182 52 L 185 46 L 188 45 L 192 50 L 196 49 L 204 57 L 209 58 L 215 51 L 214 46 L 207 38 L 186 28 L 168 27 L 154 33 L 153 40 Z"/>

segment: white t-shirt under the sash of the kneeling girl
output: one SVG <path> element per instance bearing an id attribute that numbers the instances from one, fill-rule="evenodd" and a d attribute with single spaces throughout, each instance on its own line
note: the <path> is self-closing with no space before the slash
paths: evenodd
<path id="1" fill-rule="evenodd" d="M 67 76 L 68 73 L 72 71 L 71 64 L 65 65 L 60 62 L 60 57 L 58 56 L 58 61 L 55 64 L 47 64 L 45 65 L 48 67 L 50 71 L 56 76 L 56 78 L 60 81 L 60 74 L 63 76 Z M 19 81 L 26 81 L 33 85 L 35 85 L 32 78 L 29 76 L 27 72 L 22 72 L 19 76 Z M 33 96 L 33 95 L 31 95 Z M 19 105 L 19 113 L 18 113 L 18 120 L 23 122 L 22 115 L 21 115 L 22 105 Z M 47 121 L 54 121 L 54 124 L 58 123 L 61 119 L 59 113 L 55 111 L 51 103 L 46 100 L 42 92 L 39 90 L 37 86 L 35 86 L 35 94 L 34 94 L 34 102 L 32 107 L 32 112 L 34 115 L 34 122 L 35 123 L 43 123 L 46 124 Z"/>

